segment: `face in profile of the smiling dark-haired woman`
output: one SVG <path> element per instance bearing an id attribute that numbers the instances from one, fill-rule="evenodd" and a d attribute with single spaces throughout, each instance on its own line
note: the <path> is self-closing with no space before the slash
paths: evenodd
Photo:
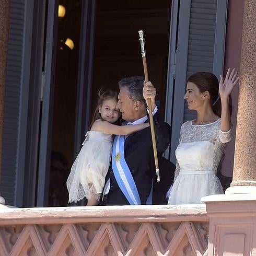
<path id="1" fill-rule="evenodd" d="M 205 101 L 205 93 L 200 92 L 194 83 L 188 82 L 184 99 L 187 100 L 189 109 L 197 110 L 202 107 Z"/>

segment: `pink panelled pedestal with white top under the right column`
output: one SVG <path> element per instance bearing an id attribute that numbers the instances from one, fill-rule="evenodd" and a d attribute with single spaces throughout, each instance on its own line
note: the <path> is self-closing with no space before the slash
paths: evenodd
<path id="1" fill-rule="evenodd" d="M 210 218 L 208 256 L 256 255 L 256 194 L 202 197 Z"/>

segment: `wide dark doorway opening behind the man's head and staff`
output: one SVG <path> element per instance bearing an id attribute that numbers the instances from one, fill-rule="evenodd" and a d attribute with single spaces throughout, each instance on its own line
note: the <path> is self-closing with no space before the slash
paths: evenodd
<path id="1" fill-rule="evenodd" d="M 144 76 L 138 30 L 145 31 L 149 80 L 164 115 L 171 1 L 97 2 L 92 108 L 100 87 L 118 90 L 127 76 Z"/>

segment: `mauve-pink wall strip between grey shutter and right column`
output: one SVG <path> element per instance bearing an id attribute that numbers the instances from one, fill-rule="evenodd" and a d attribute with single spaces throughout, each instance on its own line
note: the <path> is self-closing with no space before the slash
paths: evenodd
<path id="1" fill-rule="evenodd" d="M 235 67 L 240 71 L 240 57 L 242 44 L 242 23 L 243 23 L 243 4 L 244 0 L 229 0 L 228 1 L 228 16 L 227 16 L 227 33 L 225 47 L 225 63 L 224 72 L 226 74 L 228 67 Z M 235 152 L 235 135 L 237 125 L 237 105 L 238 105 L 238 85 L 232 92 L 233 101 L 233 137 L 225 149 L 225 159 L 222 164 L 222 172 L 226 176 L 232 176 L 234 165 Z"/>

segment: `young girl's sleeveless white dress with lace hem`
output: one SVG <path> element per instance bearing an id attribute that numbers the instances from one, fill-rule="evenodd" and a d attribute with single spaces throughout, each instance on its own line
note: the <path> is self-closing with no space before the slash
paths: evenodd
<path id="1" fill-rule="evenodd" d="M 99 200 L 109 169 L 112 134 L 88 131 L 67 179 L 68 202 L 77 202 L 92 195 Z"/>

